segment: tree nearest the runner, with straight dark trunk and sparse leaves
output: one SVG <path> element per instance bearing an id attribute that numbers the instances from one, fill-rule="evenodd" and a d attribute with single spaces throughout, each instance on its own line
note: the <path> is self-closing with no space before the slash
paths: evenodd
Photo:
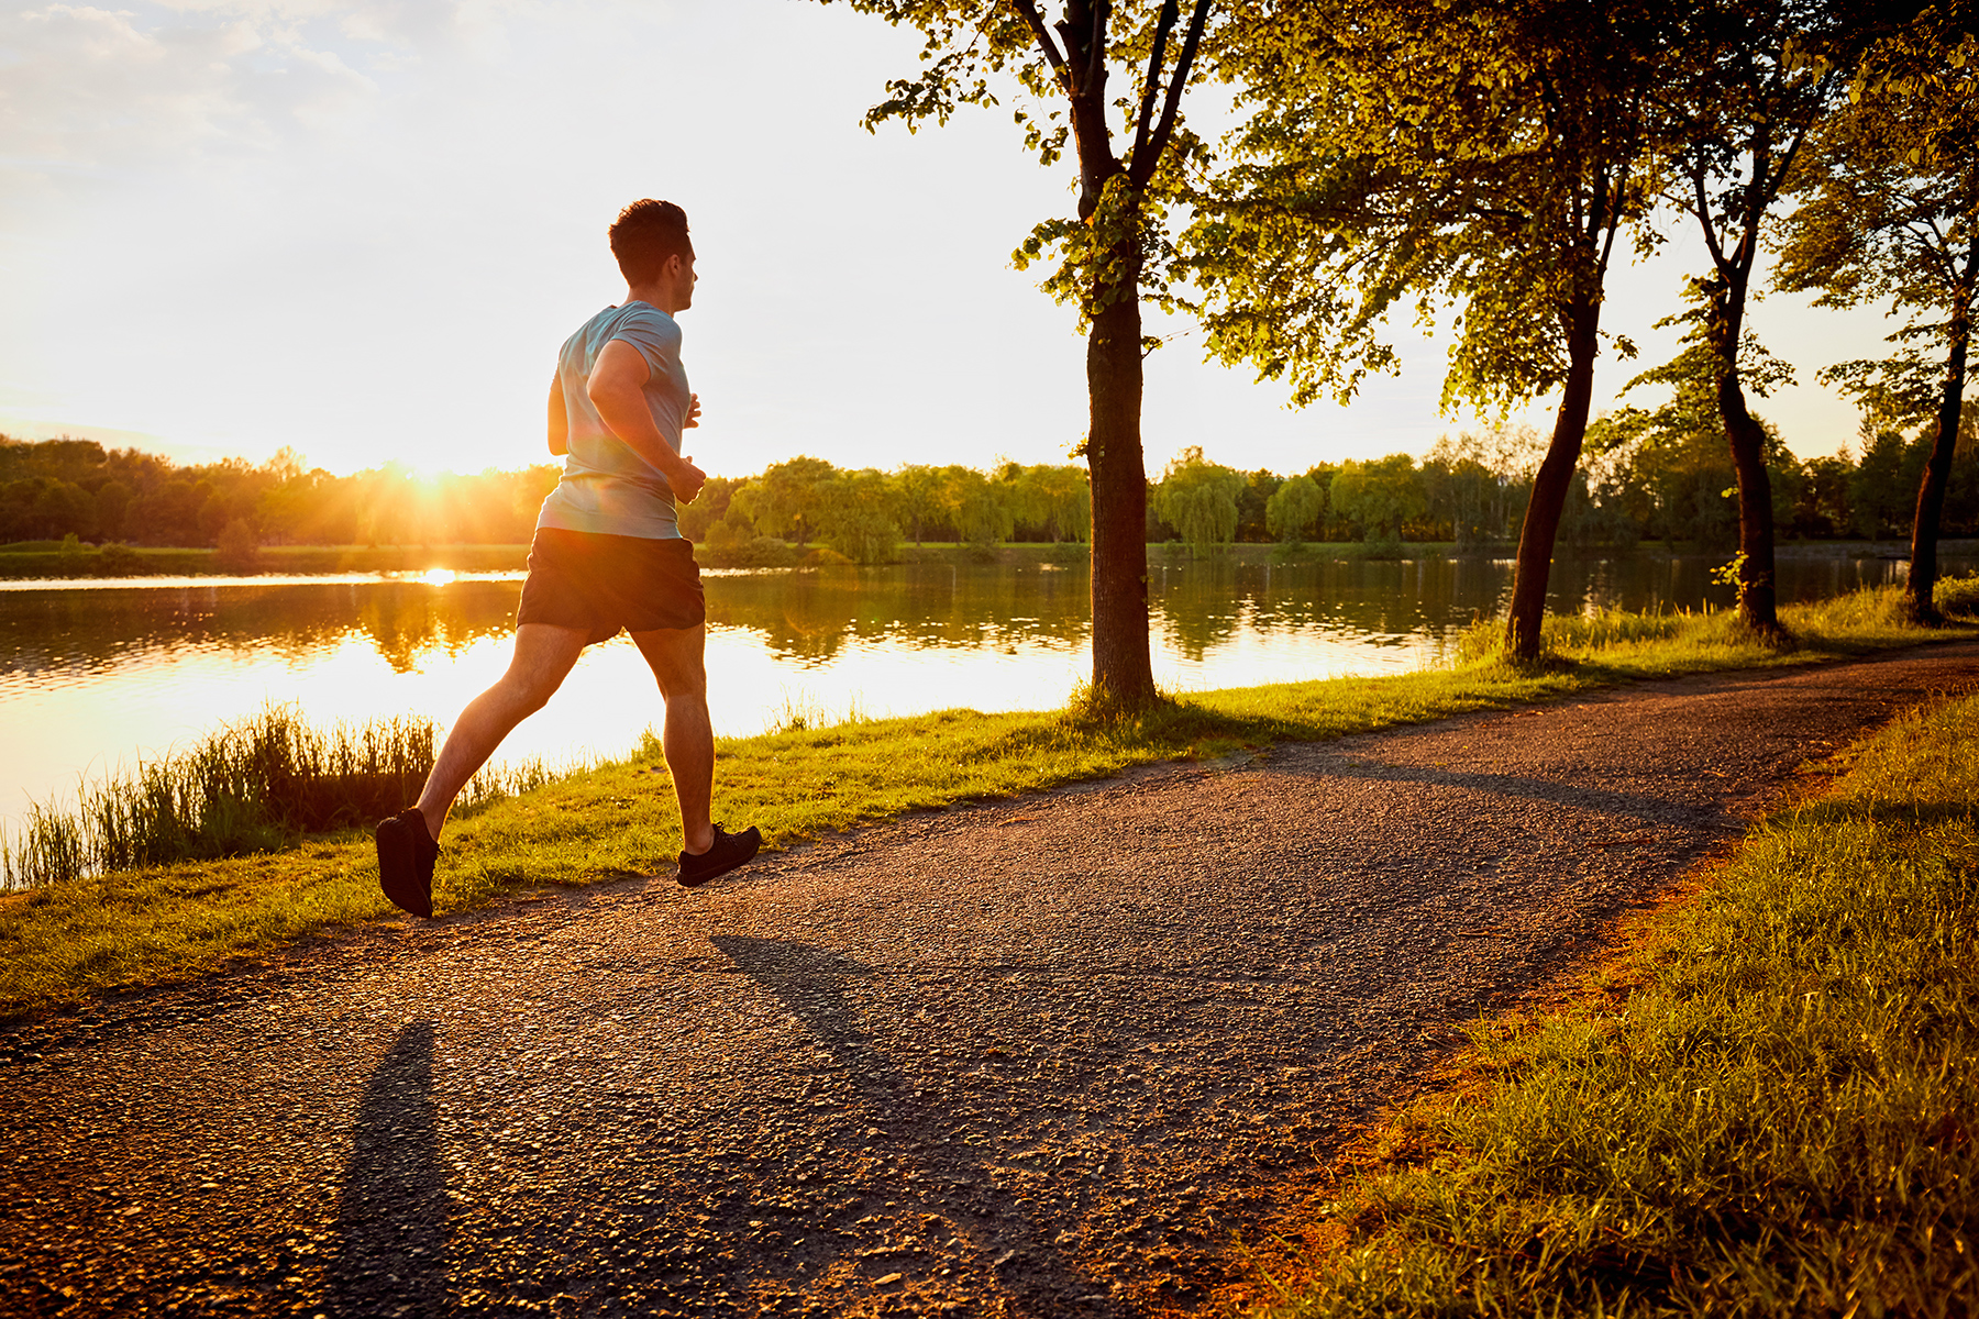
<path id="1" fill-rule="evenodd" d="M 1092 686 L 1128 706 L 1152 702 L 1140 303 L 1168 289 L 1166 212 L 1179 158 L 1195 146 L 1181 127 L 1181 93 L 1199 77 L 1209 0 L 1193 2 L 1181 32 L 1178 0 L 1065 0 L 1049 26 L 1037 0 L 847 4 L 928 38 L 920 77 L 889 83 L 889 99 L 867 111 L 869 129 L 889 119 L 910 129 L 946 123 L 960 105 L 995 105 L 997 79 L 1015 85 L 1017 125 L 1041 164 L 1073 146 L 1077 218 L 1037 225 L 1015 259 L 1025 267 L 1055 253 L 1045 289 L 1077 307 L 1086 328 L 1090 425 L 1079 453 L 1092 500 Z M 1134 77 L 1132 97 L 1118 103 L 1106 93 L 1114 65 Z M 1108 121 L 1116 107 L 1124 154 Z"/>

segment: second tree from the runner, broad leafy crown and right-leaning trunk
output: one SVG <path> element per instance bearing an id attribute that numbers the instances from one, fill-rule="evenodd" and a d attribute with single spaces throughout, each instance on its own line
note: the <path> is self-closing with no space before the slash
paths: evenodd
<path id="1" fill-rule="evenodd" d="M 1561 390 L 1520 528 L 1518 657 L 1540 647 L 1603 283 L 1650 194 L 1645 113 L 1668 45 L 1660 4 L 1593 0 L 1336 0 L 1225 38 L 1257 113 L 1189 233 L 1211 352 L 1288 376 L 1294 403 L 1344 403 L 1395 364 L 1383 318 L 1441 303 L 1459 310 L 1445 405 Z"/>

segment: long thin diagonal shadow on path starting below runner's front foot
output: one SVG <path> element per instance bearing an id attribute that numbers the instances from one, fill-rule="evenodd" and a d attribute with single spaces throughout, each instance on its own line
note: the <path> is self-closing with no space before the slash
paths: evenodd
<path id="1" fill-rule="evenodd" d="M 902 1074 L 887 1048 L 859 1026 L 861 1009 L 845 995 L 847 983 L 869 981 L 879 971 L 796 939 L 712 935 L 708 941 L 776 995 L 843 1064 L 875 1121 L 885 1119 L 895 1133 L 910 1127 L 922 1137 L 940 1135 L 942 1113 L 950 1105 L 940 1098 L 918 1099 L 916 1092 L 942 1086 L 944 1078 Z M 1120 1313 L 1110 1297 L 1094 1295 L 1102 1283 L 1071 1268 L 1051 1246 L 1051 1234 L 1031 1222 L 1011 1192 L 991 1183 L 970 1147 L 940 1139 L 920 1147 L 896 1141 L 895 1159 L 922 1173 L 922 1181 L 936 1183 L 896 1187 L 902 1216 L 910 1216 L 908 1208 L 946 1214 L 982 1256 L 984 1268 L 1035 1313 Z"/>

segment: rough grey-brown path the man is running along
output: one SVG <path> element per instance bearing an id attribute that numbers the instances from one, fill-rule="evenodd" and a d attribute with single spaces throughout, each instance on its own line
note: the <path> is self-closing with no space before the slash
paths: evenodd
<path id="1" fill-rule="evenodd" d="M 1150 1315 L 1979 645 L 916 815 L 0 1034 L 8 1313 Z"/>

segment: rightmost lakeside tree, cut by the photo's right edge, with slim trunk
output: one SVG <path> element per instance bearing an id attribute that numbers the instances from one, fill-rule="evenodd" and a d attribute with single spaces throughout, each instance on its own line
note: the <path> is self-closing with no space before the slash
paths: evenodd
<path id="1" fill-rule="evenodd" d="M 1890 342 L 1906 348 L 1892 358 L 1840 362 L 1823 378 L 1854 394 L 1872 425 L 1935 423 L 1904 587 L 1918 621 L 1937 621 L 1937 536 L 1979 281 L 1979 38 L 1945 36 L 1908 30 L 1868 53 L 1850 103 L 1811 144 L 1775 273 L 1781 289 L 1819 289 L 1821 307 L 1888 299 L 1904 320 Z"/>

